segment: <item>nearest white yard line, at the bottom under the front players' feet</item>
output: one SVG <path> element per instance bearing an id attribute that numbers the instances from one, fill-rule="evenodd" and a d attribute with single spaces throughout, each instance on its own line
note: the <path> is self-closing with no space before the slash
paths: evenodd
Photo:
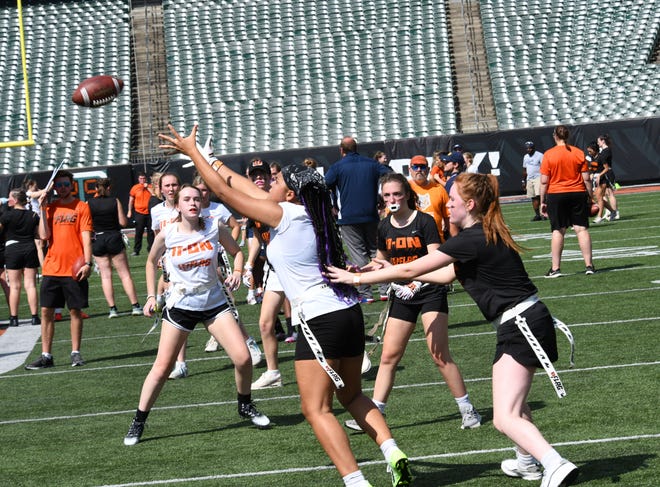
<path id="1" fill-rule="evenodd" d="M 651 433 L 645 435 L 613 436 L 613 437 L 589 439 L 589 440 L 564 441 L 564 442 L 552 443 L 552 446 L 559 447 L 559 446 L 595 445 L 600 443 L 614 443 L 614 442 L 623 442 L 623 441 L 630 442 L 630 441 L 639 441 L 639 440 L 655 440 L 658 438 L 660 438 L 660 433 Z M 410 461 L 414 463 L 416 461 L 438 460 L 442 458 L 468 457 L 473 455 L 486 455 L 491 453 L 503 453 L 510 451 L 511 451 L 510 446 L 504 448 L 485 448 L 481 450 L 466 450 L 462 452 L 449 452 L 449 453 L 437 453 L 433 455 L 411 456 Z M 371 466 L 371 465 L 383 465 L 383 464 L 385 464 L 385 460 L 368 460 L 365 462 L 358 462 L 358 465 L 360 467 Z M 150 480 L 143 482 L 129 482 L 125 484 L 106 484 L 99 487 L 137 487 L 142 485 L 179 484 L 184 482 L 204 482 L 208 480 L 239 479 L 246 477 L 263 477 L 267 475 L 287 475 L 292 473 L 320 472 L 324 470 L 334 470 L 334 469 L 335 469 L 334 465 L 317 465 L 313 467 L 293 467 L 293 468 L 282 468 L 278 470 L 261 470 L 256 472 L 241 472 L 234 474 L 205 475 L 203 477 Z"/>

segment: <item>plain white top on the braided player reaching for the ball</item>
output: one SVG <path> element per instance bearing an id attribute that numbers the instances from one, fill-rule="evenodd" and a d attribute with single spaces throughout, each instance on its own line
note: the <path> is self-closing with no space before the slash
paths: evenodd
<path id="1" fill-rule="evenodd" d="M 300 305 L 306 320 L 350 308 L 357 299 L 344 300 L 326 285 L 316 254 L 316 234 L 305 207 L 280 203 L 282 220 L 270 230 L 266 247 L 273 266 L 291 303 Z"/>

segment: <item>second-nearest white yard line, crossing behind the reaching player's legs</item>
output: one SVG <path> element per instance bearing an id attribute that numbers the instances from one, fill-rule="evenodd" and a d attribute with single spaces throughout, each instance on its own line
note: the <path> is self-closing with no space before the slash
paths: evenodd
<path id="1" fill-rule="evenodd" d="M 562 374 L 567 374 L 567 373 L 572 373 L 572 372 L 593 372 L 593 371 L 599 371 L 599 370 L 611 370 L 611 369 L 625 369 L 625 368 L 630 368 L 630 367 L 647 367 L 647 366 L 655 366 L 655 365 L 660 365 L 660 360 L 658 361 L 653 361 L 653 362 L 633 362 L 629 364 L 613 364 L 613 365 L 595 365 L 593 367 L 583 367 L 583 368 L 572 368 L 572 369 L 563 369 L 563 370 L 558 370 L 557 373 L 562 373 Z M 545 377 L 545 371 L 540 371 L 536 372 L 534 374 L 535 376 L 539 377 Z M 488 377 L 475 377 L 472 379 L 465 379 L 464 381 L 467 382 L 486 382 L 490 381 L 492 379 L 491 376 Z M 436 387 L 436 386 L 441 386 L 445 385 L 446 383 L 444 381 L 432 381 L 432 382 L 420 382 L 417 384 L 399 384 L 395 385 L 394 389 L 410 389 L 411 387 L 419 388 L 419 387 Z M 363 388 L 363 391 L 372 391 L 373 387 L 370 388 Z M 291 399 L 300 399 L 300 396 L 298 394 L 289 394 L 286 396 L 273 396 L 273 397 L 262 397 L 259 398 L 259 402 L 269 402 L 269 401 L 287 401 Z M 228 401 L 212 401 L 212 402 L 204 402 L 204 403 L 192 403 L 192 404 L 173 404 L 171 406 L 156 406 L 152 408 L 152 411 L 166 411 L 170 409 L 190 409 L 190 408 L 201 408 L 201 407 L 217 407 L 217 406 L 235 406 L 236 405 L 236 400 L 228 400 Z M 47 422 L 47 421 L 63 421 L 63 420 L 71 420 L 71 419 L 79 419 L 79 418 L 94 418 L 94 417 L 101 417 L 101 416 L 116 416 L 116 415 L 123 415 L 123 414 L 131 414 L 134 413 L 135 409 L 127 409 L 127 410 L 122 410 L 122 411 L 103 411 L 103 412 L 96 412 L 96 413 L 85 413 L 85 414 L 71 414 L 71 415 L 66 415 L 66 416 L 50 416 L 50 417 L 44 417 L 44 418 L 25 418 L 25 419 L 9 419 L 5 421 L 0 421 L 0 426 L 2 425 L 9 425 L 9 424 L 20 424 L 20 423 L 41 423 L 41 422 Z"/>

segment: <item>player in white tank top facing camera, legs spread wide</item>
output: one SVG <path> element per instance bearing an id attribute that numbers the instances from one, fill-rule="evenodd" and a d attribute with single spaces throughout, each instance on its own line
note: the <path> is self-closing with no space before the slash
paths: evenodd
<path id="1" fill-rule="evenodd" d="M 234 363 L 239 414 L 258 427 L 263 428 L 270 424 L 270 420 L 252 404 L 250 351 L 238 323 L 222 297 L 216 273 L 220 244 L 234 254 L 235 266 L 238 268 L 243 266 L 243 254 L 225 228 L 212 226 L 209 221 L 205 222 L 205 219 L 200 218 L 200 199 L 197 188 L 187 185 L 182 187 L 175 200 L 181 214 L 180 221 L 172 223 L 156 235 L 147 259 L 146 280 L 149 295 L 144 314 L 154 314 L 157 262 L 163 252 L 168 254 L 167 266 L 171 273 L 173 290 L 163 313 L 156 360 L 142 386 L 138 410 L 124 438 L 126 445 L 134 445 L 139 441 L 146 417 L 167 381 L 178 351 L 197 321 L 204 323 Z M 241 272 L 237 270 L 227 279 L 226 284 L 236 287 L 240 284 L 240 279 Z M 207 313 L 208 311 L 210 312 Z"/>

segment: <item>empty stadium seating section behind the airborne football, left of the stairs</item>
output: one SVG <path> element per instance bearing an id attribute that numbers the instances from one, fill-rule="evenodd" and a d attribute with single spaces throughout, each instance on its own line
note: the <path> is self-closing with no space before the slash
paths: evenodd
<path id="1" fill-rule="evenodd" d="M 71 103 L 77 84 L 90 76 L 113 74 L 130 84 L 129 14 L 128 0 L 23 2 L 36 144 L 0 150 L 0 173 L 53 167 L 64 158 L 69 167 L 129 162 L 130 97 L 98 109 Z M 0 45 L 0 136 L 22 140 L 27 128 L 15 6 L 0 9 Z"/>

